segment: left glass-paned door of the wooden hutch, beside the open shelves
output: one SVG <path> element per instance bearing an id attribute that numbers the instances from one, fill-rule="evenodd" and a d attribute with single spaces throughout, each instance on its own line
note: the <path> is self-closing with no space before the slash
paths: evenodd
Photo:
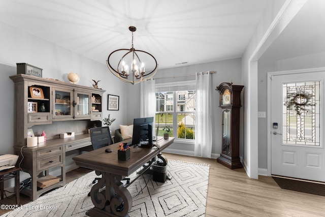
<path id="1" fill-rule="evenodd" d="M 53 118 L 70 118 L 73 115 L 73 91 L 69 89 L 53 89 Z"/>

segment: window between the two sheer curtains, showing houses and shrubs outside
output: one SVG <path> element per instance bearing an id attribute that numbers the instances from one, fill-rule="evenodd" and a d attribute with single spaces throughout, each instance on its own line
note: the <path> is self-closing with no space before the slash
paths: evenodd
<path id="1" fill-rule="evenodd" d="M 196 88 L 181 83 L 156 84 L 156 135 L 163 136 L 168 128 L 172 137 L 194 140 Z"/>

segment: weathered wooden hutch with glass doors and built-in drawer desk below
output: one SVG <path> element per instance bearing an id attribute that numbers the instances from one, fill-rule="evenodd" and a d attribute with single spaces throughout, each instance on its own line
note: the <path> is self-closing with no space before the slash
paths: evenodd
<path id="1" fill-rule="evenodd" d="M 10 78 L 15 83 L 14 150 L 19 155 L 18 162 L 22 160 L 20 167 L 31 176 L 30 187 L 21 193 L 36 200 L 43 193 L 66 183 L 66 153 L 91 145 L 85 125 L 102 121 L 105 90 L 25 74 Z M 91 109 L 93 104 L 96 104 L 95 111 Z M 54 126 L 58 121 L 60 125 Z M 82 132 L 77 132 L 74 137 L 60 138 L 60 133 L 64 133 L 60 127 L 65 129 L 64 126 L 72 126 L 76 121 L 83 121 Z M 28 129 L 37 126 L 46 127 L 52 135 L 35 147 L 27 147 Z M 56 177 L 59 182 L 38 188 L 37 180 L 49 176 L 58 167 L 60 175 Z"/>

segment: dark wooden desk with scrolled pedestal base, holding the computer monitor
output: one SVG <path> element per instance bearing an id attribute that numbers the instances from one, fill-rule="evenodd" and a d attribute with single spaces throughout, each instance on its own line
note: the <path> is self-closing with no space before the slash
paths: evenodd
<path id="1" fill-rule="evenodd" d="M 117 148 L 120 142 L 109 146 L 113 150 L 110 153 L 105 152 L 107 147 L 103 147 L 73 157 L 77 166 L 93 169 L 98 175 L 102 174 L 102 178 L 93 185 L 90 191 L 91 201 L 95 207 L 86 214 L 89 216 L 128 216 L 132 208 L 132 196 L 121 180 L 171 145 L 174 139 L 169 137 L 165 140 L 163 137 L 157 137 L 156 144 L 159 148 L 131 147 L 131 158 L 127 161 L 117 159 Z M 128 141 L 131 140 L 123 142 Z M 105 186 L 106 190 L 99 193 L 99 190 Z M 124 202 L 124 209 L 120 212 L 116 211 L 116 207 L 122 202 Z"/>

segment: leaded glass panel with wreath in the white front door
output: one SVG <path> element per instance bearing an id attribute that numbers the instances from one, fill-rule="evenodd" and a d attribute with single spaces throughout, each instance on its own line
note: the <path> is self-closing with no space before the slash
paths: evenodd
<path id="1" fill-rule="evenodd" d="M 283 84 L 283 143 L 319 146 L 320 82 Z"/>

